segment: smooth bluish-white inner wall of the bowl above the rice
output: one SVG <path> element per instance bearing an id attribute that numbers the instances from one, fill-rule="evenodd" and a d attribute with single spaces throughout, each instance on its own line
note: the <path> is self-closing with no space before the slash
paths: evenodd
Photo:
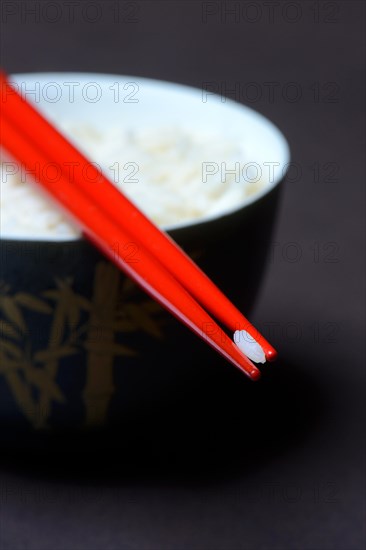
<path id="1" fill-rule="evenodd" d="M 212 129 L 223 139 L 238 140 L 243 146 L 244 162 L 255 162 L 268 174 L 267 184 L 235 207 L 164 229 L 220 218 L 251 204 L 277 185 L 290 160 L 284 136 L 269 120 L 239 103 L 223 101 L 199 89 L 135 76 L 93 73 L 26 73 L 12 75 L 10 80 L 55 125 L 67 119 L 81 124 L 92 122 L 97 128 L 120 123 L 126 128 L 174 124 Z"/>

